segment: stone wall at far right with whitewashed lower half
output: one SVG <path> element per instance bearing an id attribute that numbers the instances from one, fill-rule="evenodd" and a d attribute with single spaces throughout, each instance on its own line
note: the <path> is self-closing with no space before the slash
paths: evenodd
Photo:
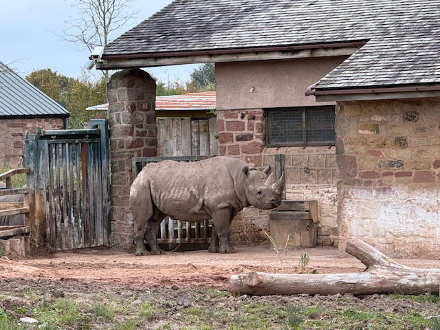
<path id="1" fill-rule="evenodd" d="M 439 257 L 440 99 L 340 102 L 340 250 L 351 236 L 391 256 Z"/>

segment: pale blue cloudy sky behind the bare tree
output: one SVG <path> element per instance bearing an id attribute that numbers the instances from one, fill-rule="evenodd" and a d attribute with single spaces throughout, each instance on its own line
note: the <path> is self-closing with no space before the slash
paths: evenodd
<path id="1" fill-rule="evenodd" d="M 133 0 L 136 18 L 110 36 L 115 39 L 172 0 Z M 78 78 L 89 63 L 89 50 L 61 36 L 65 21 L 76 17 L 74 0 L 0 0 L 0 61 L 26 76 L 36 69 L 50 68 Z M 197 65 L 146 68 L 158 80 L 187 81 Z M 91 73 L 100 76 L 96 69 Z"/>

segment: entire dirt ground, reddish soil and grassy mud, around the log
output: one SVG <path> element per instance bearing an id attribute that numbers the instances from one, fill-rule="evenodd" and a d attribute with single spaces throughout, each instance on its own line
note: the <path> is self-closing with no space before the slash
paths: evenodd
<path id="1" fill-rule="evenodd" d="M 269 248 L 236 254 L 206 251 L 134 256 L 91 249 L 33 259 L 0 259 L 0 329 L 440 329 L 440 305 L 432 295 L 232 296 L 232 274 L 359 272 L 353 257 L 335 248 L 287 252 L 283 265 Z M 412 267 L 439 260 L 397 259 Z M 311 275 L 313 276 L 313 275 Z M 40 328 L 39 328 L 40 329 Z"/>

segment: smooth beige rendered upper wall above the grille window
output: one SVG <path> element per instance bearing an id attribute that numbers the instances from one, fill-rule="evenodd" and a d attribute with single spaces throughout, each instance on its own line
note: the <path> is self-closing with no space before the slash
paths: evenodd
<path id="1" fill-rule="evenodd" d="M 304 93 L 346 58 L 215 63 L 217 110 L 335 104 Z"/>

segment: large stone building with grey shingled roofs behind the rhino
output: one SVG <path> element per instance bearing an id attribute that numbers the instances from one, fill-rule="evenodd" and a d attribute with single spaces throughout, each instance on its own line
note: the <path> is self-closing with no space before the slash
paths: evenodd
<path id="1" fill-rule="evenodd" d="M 96 65 L 215 63 L 221 155 L 263 167 L 284 154 L 287 199 L 319 203 L 319 243 L 343 249 L 356 236 L 394 256 L 438 256 L 439 13 L 429 0 L 175 1 L 109 43 Z M 150 99 L 140 76 L 153 84 L 125 71 L 109 100 L 114 129 L 126 125 L 144 154 L 153 126 L 137 138 L 130 119 L 133 102 Z M 116 86 L 124 104 L 111 100 Z M 145 126 L 153 113 L 142 109 Z M 234 241 L 264 239 L 267 212 L 237 218 Z"/>

